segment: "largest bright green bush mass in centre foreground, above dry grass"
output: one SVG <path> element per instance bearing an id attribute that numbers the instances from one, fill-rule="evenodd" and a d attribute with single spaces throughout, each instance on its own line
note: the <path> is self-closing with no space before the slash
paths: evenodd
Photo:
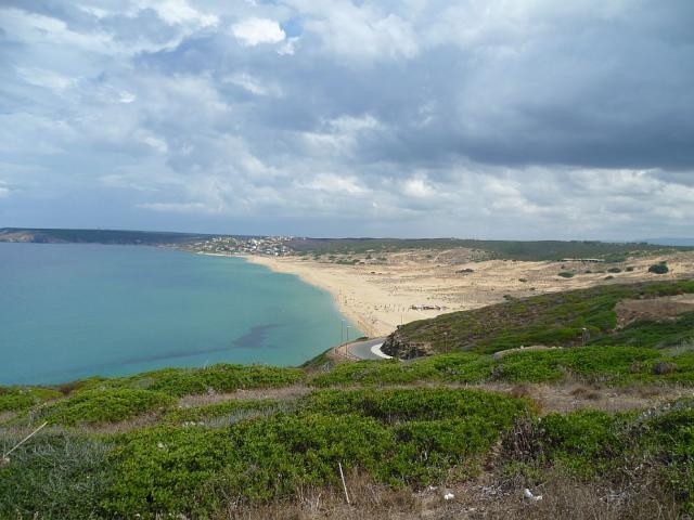
<path id="1" fill-rule="evenodd" d="M 111 456 L 116 477 L 103 506 L 112 517 L 207 518 L 224 499 L 267 502 L 338 485 L 338 464 L 381 482 L 424 485 L 486 453 L 525 413 L 525 401 L 480 391 L 321 391 L 297 414 L 131 432 Z"/>

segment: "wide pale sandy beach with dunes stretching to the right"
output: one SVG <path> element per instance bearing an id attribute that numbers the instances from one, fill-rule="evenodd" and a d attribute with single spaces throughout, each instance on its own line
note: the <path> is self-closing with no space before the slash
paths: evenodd
<path id="1" fill-rule="evenodd" d="M 599 284 L 694 276 L 694 252 L 631 258 L 624 264 L 586 261 L 476 261 L 472 251 L 403 251 L 385 262 L 344 265 L 309 257 L 246 256 L 248 261 L 295 274 L 333 295 L 339 311 L 370 337 L 390 334 L 403 323 L 476 309 L 543 292 Z M 670 272 L 654 275 L 648 266 L 667 260 Z M 369 262 L 364 259 L 364 262 Z M 621 268 L 620 273 L 607 272 Z M 625 266 L 633 271 L 625 271 Z M 573 278 L 558 276 L 573 271 Z M 612 276 L 609 280 L 605 280 Z"/>

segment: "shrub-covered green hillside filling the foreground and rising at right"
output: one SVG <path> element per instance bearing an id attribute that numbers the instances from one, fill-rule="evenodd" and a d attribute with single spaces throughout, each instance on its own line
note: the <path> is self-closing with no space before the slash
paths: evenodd
<path id="1" fill-rule="evenodd" d="M 603 289 L 476 311 L 488 333 L 447 328 L 468 351 L 407 363 L 319 356 L 0 388 L 2 453 L 48 422 L 0 461 L 0 518 L 692 514 L 691 315 L 611 330 L 616 299 L 694 286 Z M 569 347 L 567 323 L 591 327 L 594 344 Z M 541 333 L 567 348 L 489 353 Z"/>

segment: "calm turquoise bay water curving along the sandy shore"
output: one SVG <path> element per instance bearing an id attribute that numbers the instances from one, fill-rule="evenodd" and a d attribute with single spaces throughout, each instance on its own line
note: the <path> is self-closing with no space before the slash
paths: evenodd
<path id="1" fill-rule="evenodd" d="M 241 258 L 0 244 L 0 384 L 165 366 L 298 365 L 340 340 L 331 296 Z"/>

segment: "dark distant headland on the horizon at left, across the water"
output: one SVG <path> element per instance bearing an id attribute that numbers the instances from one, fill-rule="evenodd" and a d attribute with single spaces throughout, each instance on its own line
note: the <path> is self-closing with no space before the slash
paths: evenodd
<path id="1" fill-rule="evenodd" d="M 120 230 L 0 229 L 0 242 L 37 244 L 164 245 L 205 240 L 213 235 Z"/>

